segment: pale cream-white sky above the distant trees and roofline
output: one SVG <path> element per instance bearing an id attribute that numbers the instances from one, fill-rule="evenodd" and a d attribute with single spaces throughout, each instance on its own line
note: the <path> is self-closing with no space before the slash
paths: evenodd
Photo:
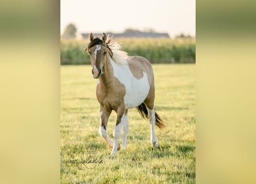
<path id="1" fill-rule="evenodd" d="M 77 33 L 121 33 L 153 29 L 174 37 L 196 36 L 196 0 L 60 0 L 60 33 L 68 24 Z"/>

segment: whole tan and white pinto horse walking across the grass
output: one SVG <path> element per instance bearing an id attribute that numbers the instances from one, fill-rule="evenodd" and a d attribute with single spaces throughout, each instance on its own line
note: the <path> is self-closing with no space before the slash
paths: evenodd
<path id="1" fill-rule="evenodd" d="M 121 45 L 110 42 L 112 38 L 102 34 L 101 39 L 89 34 L 89 44 L 85 51 L 90 55 L 93 78 L 98 79 L 96 96 L 100 103 L 100 127 L 98 132 L 106 144 L 112 148 L 111 155 L 120 149 L 119 139 L 123 127 L 123 148 L 127 147 L 129 129 L 128 109 L 136 108 L 140 115 L 149 120 L 152 147 L 159 144 L 155 135 L 155 125 L 160 129 L 165 122 L 156 113 L 154 107 L 155 85 L 151 63 L 142 56 L 128 56 L 121 51 Z M 116 126 L 112 141 L 106 127 L 109 116 L 117 113 Z"/>

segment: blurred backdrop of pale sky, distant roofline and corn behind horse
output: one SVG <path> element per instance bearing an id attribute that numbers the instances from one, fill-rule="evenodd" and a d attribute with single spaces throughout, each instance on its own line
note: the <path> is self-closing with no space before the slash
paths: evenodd
<path id="1" fill-rule="evenodd" d="M 151 63 L 196 62 L 196 1 L 60 1 L 60 62 L 90 64 L 88 34 L 105 32 Z"/>

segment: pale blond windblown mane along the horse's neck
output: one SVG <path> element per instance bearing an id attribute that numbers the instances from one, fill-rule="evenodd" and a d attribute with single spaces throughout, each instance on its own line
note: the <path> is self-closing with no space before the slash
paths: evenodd
<path id="1" fill-rule="evenodd" d="M 129 58 L 127 52 L 121 51 L 121 44 L 118 42 L 112 42 L 110 43 L 112 37 L 108 36 L 108 39 L 106 43 L 108 44 L 108 47 L 111 49 L 113 56 L 112 59 L 117 64 L 125 64 L 125 60 Z"/>

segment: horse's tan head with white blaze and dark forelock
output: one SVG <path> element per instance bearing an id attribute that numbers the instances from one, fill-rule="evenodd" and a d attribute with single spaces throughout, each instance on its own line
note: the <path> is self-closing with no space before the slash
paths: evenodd
<path id="1" fill-rule="evenodd" d="M 104 64 L 106 63 L 107 53 L 112 55 L 112 51 L 108 47 L 109 41 L 106 43 L 106 34 L 103 33 L 101 39 L 94 38 L 93 34 L 89 34 L 90 43 L 86 50 L 90 55 L 91 67 L 93 67 L 93 78 L 101 77 Z"/>

